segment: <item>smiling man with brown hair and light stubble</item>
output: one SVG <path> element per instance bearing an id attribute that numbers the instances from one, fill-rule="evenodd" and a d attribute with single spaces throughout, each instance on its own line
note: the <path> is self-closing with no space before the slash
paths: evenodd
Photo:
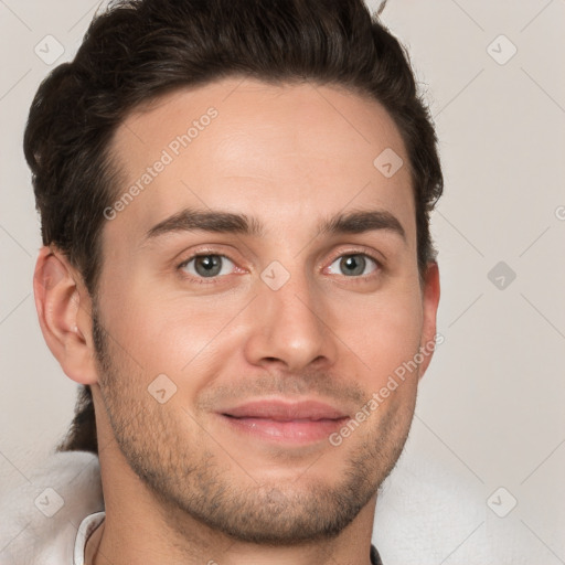
<path id="1" fill-rule="evenodd" d="M 435 345 L 443 179 L 377 17 L 115 2 L 41 85 L 24 149 L 39 320 L 82 385 L 53 472 L 94 500 L 6 558 L 381 563 L 379 488 Z"/>

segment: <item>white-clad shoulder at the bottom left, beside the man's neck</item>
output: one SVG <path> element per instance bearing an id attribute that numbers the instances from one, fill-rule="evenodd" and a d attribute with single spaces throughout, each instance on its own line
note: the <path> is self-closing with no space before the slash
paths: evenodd
<path id="1" fill-rule="evenodd" d="M 81 521 L 104 510 L 98 458 L 57 452 L 29 479 L 0 500 L 0 563 L 73 563 Z"/>

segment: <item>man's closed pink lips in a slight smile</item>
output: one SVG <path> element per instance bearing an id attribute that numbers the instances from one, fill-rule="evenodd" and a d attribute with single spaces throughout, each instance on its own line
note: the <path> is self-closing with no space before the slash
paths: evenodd
<path id="1" fill-rule="evenodd" d="M 255 401 L 218 414 L 237 434 L 290 444 L 327 439 L 349 419 L 342 411 L 317 401 Z"/>

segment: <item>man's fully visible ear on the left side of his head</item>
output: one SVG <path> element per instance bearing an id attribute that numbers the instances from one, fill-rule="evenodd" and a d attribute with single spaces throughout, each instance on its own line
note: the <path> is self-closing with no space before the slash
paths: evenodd
<path id="1" fill-rule="evenodd" d="M 42 247 L 33 292 L 43 338 L 65 374 L 79 384 L 96 383 L 92 301 L 81 275 L 62 253 Z"/>

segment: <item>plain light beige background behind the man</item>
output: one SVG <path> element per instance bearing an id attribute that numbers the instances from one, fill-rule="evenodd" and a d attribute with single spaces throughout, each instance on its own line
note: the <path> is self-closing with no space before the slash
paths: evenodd
<path id="1" fill-rule="evenodd" d="M 22 134 L 40 81 L 73 56 L 97 4 L 0 0 L 0 493 L 28 480 L 73 412 L 33 303 L 41 242 Z M 411 53 L 446 180 L 433 216 L 445 343 L 398 469 L 448 470 L 483 509 L 435 563 L 501 529 L 530 563 L 565 563 L 565 1 L 390 0 L 383 20 Z M 34 53 L 46 35 L 65 50 L 52 65 Z M 489 278 L 500 262 L 515 273 L 502 289 Z M 500 487 L 495 501 L 518 500 L 503 519 L 488 505 Z"/>

